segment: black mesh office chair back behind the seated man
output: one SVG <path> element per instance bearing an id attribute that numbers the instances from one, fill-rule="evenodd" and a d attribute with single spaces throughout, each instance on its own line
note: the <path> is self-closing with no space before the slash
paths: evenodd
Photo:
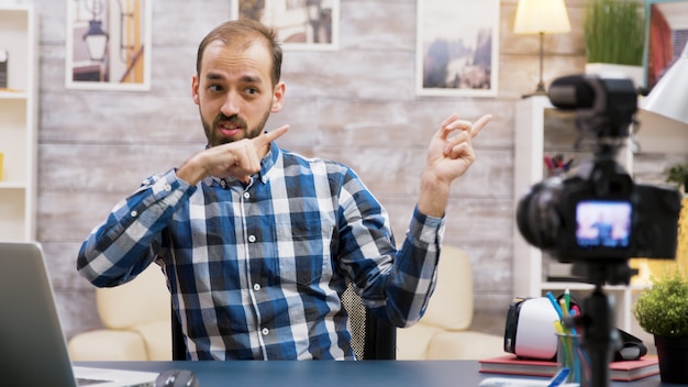
<path id="1" fill-rule="evenodd" d="M 397 358 L 397 329 L 378 320 L 363 305 L 360 297 L 351 286 L 342 295 L 342 305 L 348 312 L 352 330 L 352 349 L 357 360 L 395 360 Z M 173 310 L 173 360 L 187 358 L 181 324 Z"/>

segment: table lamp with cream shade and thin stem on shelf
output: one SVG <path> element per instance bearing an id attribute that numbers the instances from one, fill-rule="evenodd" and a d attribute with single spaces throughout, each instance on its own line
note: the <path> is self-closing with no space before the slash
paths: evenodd
<path id="1" fill-rule="evenodd" d="M 545 84 L 542 80 L 545 34 L 569 31 L 570 22 L 564 0 L 519 0 L 513 32 L 517 34 L 540 34 L 540 82 L 533 93 L 534 96 L 546 95 Z"/>

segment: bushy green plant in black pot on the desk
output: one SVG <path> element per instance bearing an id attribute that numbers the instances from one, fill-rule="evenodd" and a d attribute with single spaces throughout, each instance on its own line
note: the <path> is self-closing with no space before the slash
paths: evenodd
<path id="1" fill-rule="evenodd" d="M 654 335 L 662 382 L 688 384 L 688 277 L 676 269 L 654 278 L 641 292 L 633 316 Z"/>

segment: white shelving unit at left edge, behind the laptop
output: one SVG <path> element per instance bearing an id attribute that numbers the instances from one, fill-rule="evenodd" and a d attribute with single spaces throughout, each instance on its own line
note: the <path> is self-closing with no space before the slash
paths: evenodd
<path id="1" fill-rule="evenodd" d="M 0 241 L 35 240 L 37 18 L 31 4 L 0 5 L 0 49 L 7 88 L 0 89 Z"/>

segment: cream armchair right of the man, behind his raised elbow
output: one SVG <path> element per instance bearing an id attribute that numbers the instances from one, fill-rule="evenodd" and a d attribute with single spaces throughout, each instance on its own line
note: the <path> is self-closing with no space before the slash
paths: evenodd
<path id="1" fill-rule="evenodd" d="M 473 317 L 470 258 L 460 248 L 444 245 L 437 285 L 425 314 L 414 325 L 397 330 L 397 358 L 479 360 L 503 355 L 503 336 L 470 330 Z"/>

